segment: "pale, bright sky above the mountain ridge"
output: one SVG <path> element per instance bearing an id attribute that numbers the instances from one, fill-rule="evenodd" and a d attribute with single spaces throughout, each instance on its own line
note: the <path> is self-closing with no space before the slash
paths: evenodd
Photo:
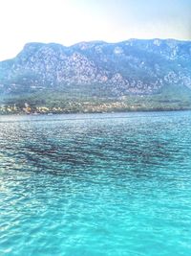
<path id="1" fill-rule="evenodd" d="M 28 42 L 191 40 L 191 0 L 0 0 L 0 60 Z"/>

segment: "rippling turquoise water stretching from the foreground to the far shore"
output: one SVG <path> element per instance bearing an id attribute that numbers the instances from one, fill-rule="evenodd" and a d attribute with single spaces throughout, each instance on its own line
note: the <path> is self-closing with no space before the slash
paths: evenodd
<path id="1" fill-rule="evenodd" d="M 190 256 L 191 112 L 0 117 L 0 255 Z"/>

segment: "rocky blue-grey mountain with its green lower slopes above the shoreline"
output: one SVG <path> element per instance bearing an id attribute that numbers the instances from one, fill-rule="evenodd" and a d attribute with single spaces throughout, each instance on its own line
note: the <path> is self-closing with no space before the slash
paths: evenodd
<path id="1" fill-rule="evenodd" d="M 101 104 L 136 99 L 138 106 L 142 96 L 158 99 L 160 106 L 177 101 L 189 108 L 191 41 L 130 39 L 71 47 L 28 43 L 15 58 L 0 62 L 0 95 L 4 105 L 20 108 L 26 101 L 33 101 L 34 108 L 56 108 L 69 99 Z"/>

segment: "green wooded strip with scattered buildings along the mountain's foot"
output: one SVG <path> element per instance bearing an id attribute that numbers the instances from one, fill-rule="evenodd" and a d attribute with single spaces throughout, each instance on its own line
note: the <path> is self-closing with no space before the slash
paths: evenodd
<path id="1" fill-rule="evenodd" d="M 152 111 L 191 109 L 191 91 L 166 86 L 159 94 L 118 98 L 71 95 L 62 91 L 10 95 L 0 100 L 0 114 L 94 113 L 113 111 Z"/>

